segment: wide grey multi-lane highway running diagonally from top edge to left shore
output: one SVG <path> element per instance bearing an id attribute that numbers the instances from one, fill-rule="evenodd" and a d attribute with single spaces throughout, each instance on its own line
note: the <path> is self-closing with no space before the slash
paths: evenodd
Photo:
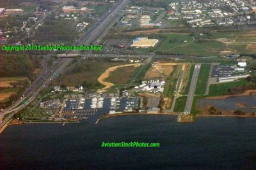
<path id="1" fill-rule="evenodd" d="M 120 10 L 122 10 L 122 8 L 124 8 L 124 6 L 128 2 L 129 2 L 129 0 L 118 1 L 118 3 L 116 3 L 113 6 L 113 8 L 111 8 L 110 11 L 107 11 L 100 18 L 100 20 L 98 22 L 96 22 L 83 36 L 81 36 L 81 38 L 77 42 L 78 43 L 83 42 L 85 44 L 91 43 L 93 41 L 93 39 L 96 39 L 102 33 L 102 31 L 104 31 L 105 27 L 108 27 L 109 22 L 111 22 L 111 20 L 113 20 L 113 18 L 116 17 L 117 13 L 120 12 Z M 73 52 L 73 51 L 68 51 L 67 53 L 71 53 L 71 52 Z M 25 97 L 22 100 L 15 102 L 15 104 L 10 106 L 10 108 L 6 108 L 5 110 L 3 110 L 1 112 L 0 128 L 3 127 L 3 125 L 6 124 L 6 122 L 8 122 L 8 120 L 10 120 L 10 118 L 12 118 L 13 115 L 15 115 L 15 113 L 22 110 L 29 103 L 31 103 L 36 98 L 36 96 L 38 96 L 38 93 L 42 89 L 44 89 L 44 87 L 48 87 L 50 81 L 53 78 L 56 78 L 56 76 L 60 75 L 65 70 L 65 67 L 67 67 L 68 64 L 70 64 L 70 62 L 72 62 L 72 59 L 60 59 L 53 66 L 51 66 L 51 68 L 48 69 L 48 71 L 47 71 L 47 69 L 46 69 L 47 59 L 50 57 L 50 55 L 51 54 L 49 54 L 49 56 L 47 56 L 46 60 L 44 61 L 43 71 L 42 71 L 42 74 L 40 75 L 40 77 L 37 78 L 36 81 L 24 93 Z M 31 96 L 31 97 L 28 98 L 28 96 Z M 28 103 L 21 104 L 22 101 L 24 101 L 25 99 L 28 100 Z M 4 115 L 6 115 L 8 113 L 12 113 L 12 114 L 10 114 L 8 116 L 8 118 L 6 118 L 4 121 L 2 121 Z"/>

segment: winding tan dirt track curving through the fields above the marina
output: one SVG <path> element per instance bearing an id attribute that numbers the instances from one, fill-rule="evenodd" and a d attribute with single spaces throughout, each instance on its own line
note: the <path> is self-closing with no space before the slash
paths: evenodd
<path id="1" fill-rule="evenodd" d="M 136 63 L 136 64 L 125 64 L 125 65 L 121 65 L 121 66 L 114 66 L 114 67 L 109 67 L 104 73 L 102 73 L 99 78 L 98 81 L 100 83 L 102 83 L 102 85 L 105 85 L 104 88 L 99 89 L 97 92 L 106 92 L 106 89 L 109 89 L 110 87 L 112 87 L 114 84 L 110 83 L 108 81 L 104 81 L 106 78 L 108 78 L 108 76 L 111 74 L 111 72 L 115 71 L 116 69 L 120 68 L 120 67 L 128 67 L 128 66 L 134 66 L 134 67 L 139 67 L 141 64 L 140 63 Z"/>

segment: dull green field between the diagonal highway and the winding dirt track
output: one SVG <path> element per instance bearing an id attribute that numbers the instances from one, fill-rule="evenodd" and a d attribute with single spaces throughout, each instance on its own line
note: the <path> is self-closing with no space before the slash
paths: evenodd
<path id="1" fill-rule="evenodd" d="M 90 70 L 81 71 L 81 73 L 66 74 L 62 80 L 58 81 L 58 84 L 75 87 L 77 85 L 81 85 L 84 80 L 96 84 L 99 83 L 97 79 L 102 73 L 104 73 L 104 71 L 106 71 L 106 69 L 122 64 L 124 64 L 124 62 L 90 62 Z"/>

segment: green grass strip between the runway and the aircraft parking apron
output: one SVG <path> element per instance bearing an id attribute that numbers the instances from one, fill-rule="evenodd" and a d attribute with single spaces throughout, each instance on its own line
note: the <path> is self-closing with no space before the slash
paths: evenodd
<path id="1" fill-rule="evenodd" d="M 211 64 L 202 64 L 201 65 L 195 94 L 199 94 L 199 95 L 205 94 L 210 68 L 211 68 Z"/>

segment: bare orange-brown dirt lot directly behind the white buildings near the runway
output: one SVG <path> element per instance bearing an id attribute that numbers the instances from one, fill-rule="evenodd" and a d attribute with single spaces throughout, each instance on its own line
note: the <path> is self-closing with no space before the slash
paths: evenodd
<path id="1" fill-rule="evenodd" d="M 145 78 L 166 78 L 172 73 L 173 66 L 175 65 L 177 64 L 168 62 L 157 62 L 156 64 L 152 64 L 145 74 Z"/>

